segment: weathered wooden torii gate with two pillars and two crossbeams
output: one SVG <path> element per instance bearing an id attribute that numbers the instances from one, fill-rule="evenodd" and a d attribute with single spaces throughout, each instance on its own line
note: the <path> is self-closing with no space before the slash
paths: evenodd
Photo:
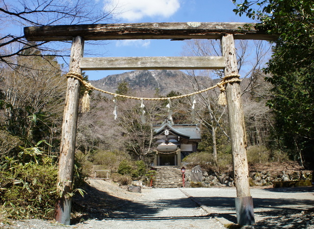
<path id="1" fill-rule="evenodd" d="M 249 26 L 249 27 L 248 27 Z M 55 25 L 25 27 L 28 41 L 72 40 L 69 72 L 82 70 L 223 69 L 225 76 L 237 75 L 234 39 L 274 40 L 247 23 L 134 23 Z M 239 27 L 243 29 L 239 29 Z M 122 39 L 220 39 L 221 57 L 83 57 L 84 40 Z M 235 77 L 235 76 L 234 76 Z M 62 196 L 56 203 L 55 219 L 70 224 L 74 153 L 77 132 L 79 81 L 69 77 L 63 116 L 57 187 Z M 236 187 L 237 223 L 255 223 L 246 157 L 246 133 L 239 82 L 227 83 L 226 96 Z"/>

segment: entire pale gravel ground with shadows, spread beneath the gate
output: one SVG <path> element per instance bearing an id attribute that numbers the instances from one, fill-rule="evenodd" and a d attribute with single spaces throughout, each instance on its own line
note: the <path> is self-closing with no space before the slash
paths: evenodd
<path id="1" fill-rule="evenodd" d="M 183 223 L 183 219 L 191 220 L 191 224 L 194 226 L 202 222 L 202 220 L 206 220 L 207 224 L 212 228 L 223 227 L 225 223 L 219 221 L 219 226 L 213 221 L 210 215 L 212 212 L 218 213 L 219 217 L 226 219 L 230 224 L 235 224 L 236 222 L 234 209 L 234 197 L 236 194 L 234 187 L 182 188 L 183 192 L 180 192 L 180 188 L 142 188 L 142 193 L 131 193 L 127 191 L 126 187 L 119 187 L 115 183 L 104 180 L 90 179 L 88 182 L 89 184 L 84 188 L 87 192 L 85 197 L 81 198 L 77 196 L 73 199 L 74 213 L 72 215 L 71 226 L 65 227 L 55 224 L 53 221 L 33 219 L 14 221 L 12 225 L 1 225 L 0 223 L 0 228 L 101 229 L 105 226 L 105 228 L 108 229 L 127 229 L 131 228 L 131 226 L 134 226 L 133 228 L 148 228 L 148 224 L 154 224 L 153 228 L 160 228 L 157 227 L 158 225 L 160 226 L 158 222 L 163 222 L 164 219 L 167 221 L 163 222 L 165 224 L 163 228 L 176 228 L 178 224 Z M 313 191 L 314 187 L 286 189 L 274 189 L 272 187 L 252 188 L 251 193 L 255 201 L 254 211 L 257 224 L 254 226 L 246 226 L 245 228 L 314 229 L 314 209 L 312 208 L 314 205 Z M 171 196 L 170 193 L 172 192 L 176 192 L 177 194 Z M 160 195 L 160 193 L 163 196 L 161 196 L 159 200 L 158 195 Z M 193 216 L 194 220 L 188 217 L 179 217 L 180 219 L 177 217 L 178 219 L 175 220 L 176 214 L 178 214 L 181 208 L 185 209 L 186 213 L 191 209 L 191 214 L 194 214 L 193 211 L 199 209 L 195 208 L 197 206 L 191 208 L 186 207 L 188 203 L 191 204 L 191 200 L 189 201 L 187 197 L 183 198 L 182 193 L 187 193 L 188 196 L 192 196 L 193 199 L 201 203 L 199 206 L 206 206 L 205 208 L 202 206 L 202 208 L 207 211 L 207 213 L 202 213 L 204 216 L 198 216 L 198 218 Z M 176 198 L 174 197 L 180 197 L 179 201 L 175 200 Z M 182 204 L 183 202 L 184 204 Z M 209 210 L 206 210 L 206 208 Z M 187 209 L 189 209 L 189 211 L 187 211 Z M 167 213 L 169 210 L 170 214 Z M 158 215 L 162 213 L 167 214 L 167 217 L 163 215 L 162 217 L 157 216 L 158 220 L 156 220 L 155 214 Z M 171 217 L 169 217 L 169 215 L 171 215 Z M 149 218 L 149 221 L 146 220 L 146 217 Z M 207 218 L 204 219 L 203 217 Z M 174 224 L 173 227 L 170 227 L 169 223 Z M 186 228 L 184 224 L 181 226 Z M 195 228 L 202 228 L 202 226 L 198 225 Z"/>

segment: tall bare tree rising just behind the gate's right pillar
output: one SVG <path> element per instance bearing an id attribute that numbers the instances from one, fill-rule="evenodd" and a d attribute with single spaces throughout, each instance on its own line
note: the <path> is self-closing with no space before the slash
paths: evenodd
<path id="1" fill-rule="evenodd" d="M 249 49 L 247 41 L 237 41 L 236 54 L 238 70 L 240 74 L 243 74 L 243 78 L 251 76 L 254 72 L 262 68 L 265 63 L 265 57 L 269 46 L 265 42 L 254 42 L 254 46 Z M 252 49 L 254 47 L 255 49 Z M 186 42 L 186 46 L 183 51 L 184 55 L 192 56 L 221 56 L 220 43 L 213 40 L 189 40 Z M 197 75 L 201 76 L 197 76 Z M 193 85 L 194 91 L 199 91 L 214 85 L 219 81 L 219 78 L 223 77 L 223 71 L 201 71 L 199 73 L 190 71 L 189 75 L 190 83 Z M 216 79 L 216 80 L 215 80 Z M 249 77 L 249 79 L 253 79 Z M 256 84 L 255 84 L 256 86 Z M 248 92 L 253 88 L 253 83 L 250 81 L 243 89 L 244 92 Z M 228 137 L 228 131 L 221 125 L 221 121 L 226 119 L 226 107 L 217 105 L 219 91 L 209 91 L 197 96 L 198 103 L 198 119 L 201 125 L 206 127 L 212 136 L 212 151 L 214 161 L 217 164 L 217 143 L 216 143 L 216 131 L 217 128 Z M 206 115 L 205 115 L 206 114 Z"/>

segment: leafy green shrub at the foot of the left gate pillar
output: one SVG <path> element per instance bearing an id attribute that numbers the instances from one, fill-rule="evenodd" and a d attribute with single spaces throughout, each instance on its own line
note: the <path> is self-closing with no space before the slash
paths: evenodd
<path id="1" fill-rule="evenodd" d="M 0 164 L 0 204 L 9 218 L 52 219 L 57 199 L 55 158 L 45 155 L 38 144 L 21 149 L 17 156 L 5 156 Z M 74 186 L 83 179 L 76 163 Z"/>

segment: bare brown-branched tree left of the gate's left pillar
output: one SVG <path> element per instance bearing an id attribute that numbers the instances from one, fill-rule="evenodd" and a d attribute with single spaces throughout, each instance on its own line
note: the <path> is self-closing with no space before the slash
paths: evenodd
<path id="1" fill-rule="evenodd" d="M 52 143 L 60 128 L 66 79 L 61 76 L 56 60 L 47 58 L 49 63 L 39 56 L 19 56 L 19 67 L 2 69 L 4 123 L 13 135 L 29 142 L 47 140 Z"/>

